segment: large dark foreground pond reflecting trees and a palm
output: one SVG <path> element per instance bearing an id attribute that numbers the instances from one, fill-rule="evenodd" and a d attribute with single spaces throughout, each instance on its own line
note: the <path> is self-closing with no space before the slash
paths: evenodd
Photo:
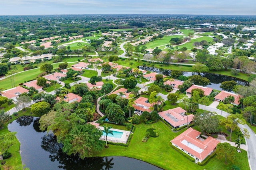
<path id="1" fill-rule="evenodd" d="M 38 121 L 36 117 L 22 116 L 8 125 L 11 132 L 17 132 L 22 164 L 30 170 L 160 170 L 146 162 L 122 156 L 85 159 L 68 156 L 62 152 L 54 135 L 39 130 Z"/>

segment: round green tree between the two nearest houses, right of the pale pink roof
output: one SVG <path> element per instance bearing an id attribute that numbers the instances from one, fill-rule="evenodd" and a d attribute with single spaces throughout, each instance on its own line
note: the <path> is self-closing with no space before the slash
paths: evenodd
<path id="1" fill-rule="evenodd" d="M 206 134 L 219 132 L 219 119 L 214 113 L 196 113 L 193 122 Z"/>

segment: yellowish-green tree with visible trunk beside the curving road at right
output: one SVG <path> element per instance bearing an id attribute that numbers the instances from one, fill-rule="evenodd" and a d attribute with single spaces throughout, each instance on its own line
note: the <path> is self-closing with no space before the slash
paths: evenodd
<path id="1" fill-rule="evenodd" d="M 232 131 L 239 129 L 238 123 L 242 125 L 246 123 L 240 114 L 229 115 L 226 119 L 220 120 L 220 125 L 223 125 L 226 129 L 230 129 L 229 140 L 231 140 Z"/>

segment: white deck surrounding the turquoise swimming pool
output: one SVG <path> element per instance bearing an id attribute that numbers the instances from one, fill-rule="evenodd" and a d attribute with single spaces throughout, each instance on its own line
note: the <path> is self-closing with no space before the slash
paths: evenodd
<path id="1" fill-rule="evenodd" d="M 99 126 L 99 129 L 100 130 L 104 130 L 103 127 L 100 127 Z M 108 142 L 114 142 L 114 143 L 124 143 L 126 144 L 129 136 L 130 136 L 130 131 L 127 131 L 127 130 L 120 130 L 120 129 L 116 129 L 116 128 L 111 128 L 110 130 L 113 130 L 113 131 L 117 131 L 117 132 L 123 132 L 121 138 L 114 138 L 114 137 L 110 137 L 108 136 Z M 100 140 L 105 140 L 106 141 L 106 136 L 101 136 L 100 137 Z"/>

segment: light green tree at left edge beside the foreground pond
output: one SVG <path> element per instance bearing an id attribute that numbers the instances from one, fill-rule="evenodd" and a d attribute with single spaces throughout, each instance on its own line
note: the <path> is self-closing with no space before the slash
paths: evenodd
<path id="1" fill-rule="evenodd" d="M 7 150 L 10 148 L 10 146 L 14 144 L 16 133 L 17 132 L 8 132 L 0 135 L 0 158 L 2 158 Z"/>

